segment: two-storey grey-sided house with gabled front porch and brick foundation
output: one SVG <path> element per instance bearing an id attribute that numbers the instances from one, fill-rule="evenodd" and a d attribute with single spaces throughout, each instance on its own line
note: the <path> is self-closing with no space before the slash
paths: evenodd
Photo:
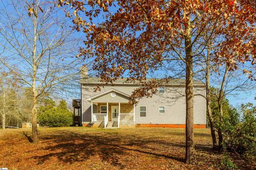
<path id="1" fill-rule="evenodd" d="M 150 79 L 148 79 L 150 80 Z M 183 79 L 159 87 L 152 98 L 129 103 L 129 97 L 140 84 L 124 83 L 118 79 L 114 86 L 105 85 L 101 91 L 99 78 L 81 80 L 81 114 L 79 122 L 87 127 L 185 127 L 186 101 Z M 205 128 L 206 101 L 204 84 L 194 81 L 194 127 Z"/>

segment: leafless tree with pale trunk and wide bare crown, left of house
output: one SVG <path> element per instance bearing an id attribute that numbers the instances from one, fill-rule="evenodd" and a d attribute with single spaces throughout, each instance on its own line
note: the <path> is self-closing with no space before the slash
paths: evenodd
<path id="1" fill-rule="evenodd" d="M 49 1 L 2 1 L 0 22 L 1 62 L 33 93 L 32 135 L 38 143 L 39 96 L 58 90 L 78 76 L 75 57 L 78 39 Z"/>

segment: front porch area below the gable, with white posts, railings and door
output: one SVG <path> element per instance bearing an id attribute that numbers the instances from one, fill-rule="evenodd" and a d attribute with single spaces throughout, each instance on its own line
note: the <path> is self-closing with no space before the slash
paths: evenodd
<path id="1" fill-rule="evenodd" d="M 135 104 L 91 101 L 93 124 L 99 127 L 134 126 Z"/>

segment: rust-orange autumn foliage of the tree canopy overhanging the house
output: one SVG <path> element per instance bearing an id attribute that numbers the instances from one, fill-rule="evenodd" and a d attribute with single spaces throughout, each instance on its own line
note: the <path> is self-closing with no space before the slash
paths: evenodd
<path id="1" fill-rule="evenodd" d="M 191 29 L 195 58 L 211 38 L 217 67 L 224 62 L 230 69 L 236 69 L 239 62 L 255 64 L 252 57 L 256 50 L 251 42 L 255 42 L 256 12 L 249 1 L 239 1 L 238 9 L 234 0 L 90 0 L 86 4 L 90 10 L 80 1 L 59 2 L 74 7 L 73 22 L 77 30 L 83 29 L 84 44 L 101 77 L 123 76 L 126 70 L 125 76 L 142 80 L 148 70 L 162 68 L 164 61 L 183 58 L 185 27 Z M 111 5 L 114 10 L 110 12 Z M 77 12 L 84 12 L 86 18 L 77 18 Z M 93 18 L 101 14 L 102 21 L 93 26 Z"/>

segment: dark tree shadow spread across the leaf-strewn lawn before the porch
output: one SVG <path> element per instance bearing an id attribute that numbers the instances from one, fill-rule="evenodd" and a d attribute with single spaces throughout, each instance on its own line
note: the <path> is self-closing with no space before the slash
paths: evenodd
<path id="1" fill-rule="evenodd" d="M 29 138 L 28 138 L 29 139 Z M 165 154 L 161 150 L 157 150 L 154 146 L 163 145 L 166 148 L 175 148 L 185 150 L 185 143 L 177 144 L 156 139 L 140 139 L 135 136 L 121 136 L 111 135 L 108 133 L 102 134 L 80 134 L 70 131 L 61 131 L 59 134 L 47 134 L 41 137 L 44 143 L 51 143 L 47 145 L 44 150 L 49 153 L 42 156 L 34 156 L 38 164 L 43 164 L 46 160 L 52 157 L 57 157 L 60 161 L 65 163 L 82 162 L 88 159 L 99 159 L 103 162 L 110 163 L 118 168 L 125 168 L 126 162 L 123 159 L 126 156 L 133 156 L 135 154 L 143 154 L 148 156 L 163 157 L 183 162 L 183 156 L 175 154 L 175 151 Z M 149 146 L 153 145 L 153 148 Z M 197 145 L 199 150 L 210 151 L 209 147 L 205 145 Z M 94 157 L 96 156 L 96 157 Z"/>

